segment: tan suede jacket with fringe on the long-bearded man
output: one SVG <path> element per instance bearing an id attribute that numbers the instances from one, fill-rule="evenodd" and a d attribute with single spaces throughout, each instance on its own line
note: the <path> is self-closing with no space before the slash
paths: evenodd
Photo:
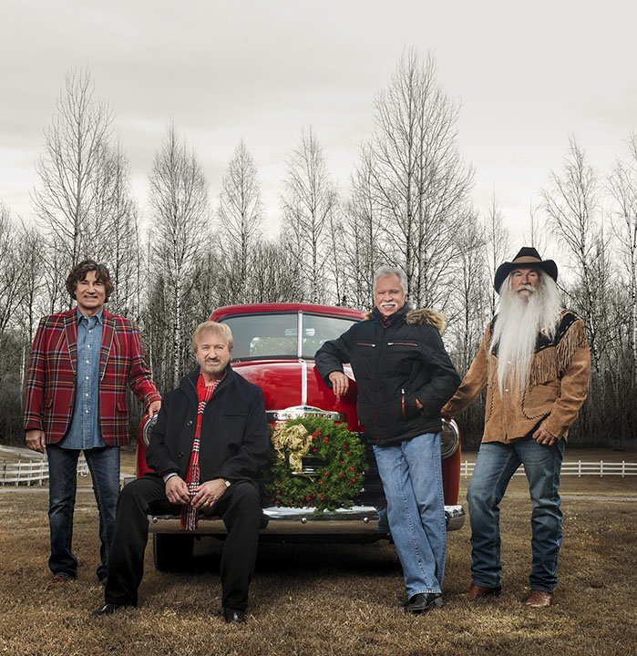
<path id="1" fill-rule="evenodd" d="M 492 326 L 493 322 L 488 324 L 476 359 L 443 409 L 457 415 L 486 386 L 483 442 L 510 442 L 528 436 L 539 425 L 556 437 L 568 436 L 589 391 L 591 352 L 584 323 L 564 310 L 552 340 L 538 335 L 527 388 L 521 393 L 505 389 L 503 395 L 498 386 L 497 349 L 488 351 Z"/>

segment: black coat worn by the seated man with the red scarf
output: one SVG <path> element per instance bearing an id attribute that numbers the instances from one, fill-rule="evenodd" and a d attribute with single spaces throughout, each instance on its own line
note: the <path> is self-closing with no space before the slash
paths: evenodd
<path id="1" fill-rule="evenodd" d="M 200 480 L 255 480 L 268 460 L 270 432 L 261 388 L 228 366 L 201 419 Z M 161 401 L 146 461 L 161 477 L 186 480 L 197 423 L 199 367 Z"/>

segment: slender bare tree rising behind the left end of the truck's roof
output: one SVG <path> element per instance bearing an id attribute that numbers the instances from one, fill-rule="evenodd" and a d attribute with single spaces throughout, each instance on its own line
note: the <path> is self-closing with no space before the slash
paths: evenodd
<path id="1" fill-rule="evenodd" d="M 232 280 L 237 288 L 235 301 L 241 302 L 246 298 L 249 262 L 262 223 L 257 169 L 242 139 L 221 180 L 218 216 L 224 239 L 230 246 L 229 254 L 238 265 L 238 275 Z"/>

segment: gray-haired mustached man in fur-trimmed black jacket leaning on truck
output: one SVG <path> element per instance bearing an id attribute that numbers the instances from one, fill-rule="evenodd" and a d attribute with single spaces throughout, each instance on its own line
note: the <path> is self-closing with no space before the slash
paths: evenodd
<path id="1" fill-rule="evenodd" d="M 447 526 L 442 487 L 440 408 L 460 383 L 440 333 L 441 314 L 410 310 L 399 269 L 375 273 L 375 308 L 317 351 L 315 364 L 334 395 L 347 393 L 350 363 L 357 409 L 374 445 L 387 518 L 403 566 L 407 612 L 442 605 Z"/>

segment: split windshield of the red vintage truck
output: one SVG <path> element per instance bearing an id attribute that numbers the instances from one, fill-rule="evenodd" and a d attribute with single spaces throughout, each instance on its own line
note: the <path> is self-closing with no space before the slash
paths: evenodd
<path id="1" fill-rule="evenodd" d="M 324 342 L 336 339 L 355 323 L 354 319 L 309 313 L 245 314 L 220 321 L 230 326 L 234 337 L 232 360 L 313 358 Z"/>

